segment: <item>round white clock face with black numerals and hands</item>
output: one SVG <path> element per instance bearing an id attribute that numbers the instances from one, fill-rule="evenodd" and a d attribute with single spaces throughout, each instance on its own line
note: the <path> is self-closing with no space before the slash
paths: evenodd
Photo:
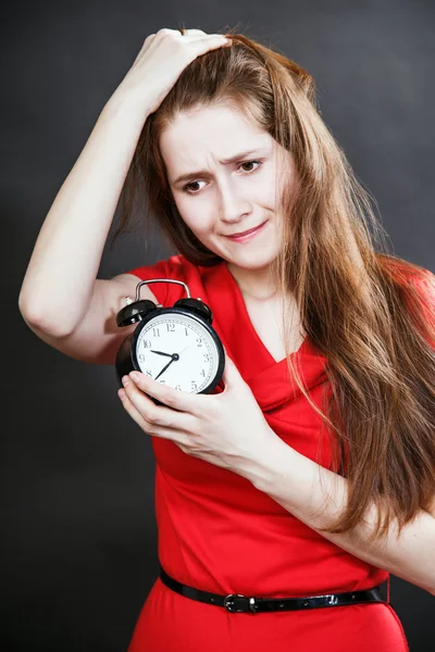
<path id="1" fill-rule="evenodd" d="M 174 353 L 179 358 L 171 362 Z M 211 384 L 217 372 L 217 358 L 210 333 L 195 318 L 182 314 L 162 314 L 150 319 L 136 341 L 136 359 L 142 374 L 190 393 L 198 393 Z"/>

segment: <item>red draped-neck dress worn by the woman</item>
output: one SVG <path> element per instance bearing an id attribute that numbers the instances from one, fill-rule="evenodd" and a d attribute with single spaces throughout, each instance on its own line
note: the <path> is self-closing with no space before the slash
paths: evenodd
<path id="1" fill-rule="evenodd" d="M 250 386 L 271 428 L 315 460 L 321 419 L 276 362 L 249 318 L 226 262 L 213 267 L 183 255 L 129 271 L 142 280 L 173 278 L 212 310 L 212 326 Z M 185 297 L 176 284 L 151 284 L 159 303 Z M 309 339 L 293 353 L 311 398 L 320 403 L 326 359 Z M 222 381 L 221 381 L 222 383 Z M 221 386 L 222 388 L 223 386 Z M 291 396 L 289 389 L 293 389 Z M 361 590 L 389 578 L 293 516 L 246 478 L 151 437 L 156 455 L 158 555 L 176 580 L 213 593 L 302 597 Z M 330 464 L 328 438 L 321 463 Z M 390 604 L 352 604 L 277 613 L 229 613 L 167 588 L 158 577 L 138 616 L 128 652 L 408 652 Z"/>

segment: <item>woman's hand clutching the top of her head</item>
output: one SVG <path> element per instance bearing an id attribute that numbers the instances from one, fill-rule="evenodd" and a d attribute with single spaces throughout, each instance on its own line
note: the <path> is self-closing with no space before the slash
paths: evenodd
<path id="1" fill-rule="evenodd" d="M 159 29 L 145 39 L 139 54 L 116 90 L 134 96 L 146 112 L 153 113 L 187 65 L 209 50 L 231 46 L 221 34 L 202 29 Z"/>

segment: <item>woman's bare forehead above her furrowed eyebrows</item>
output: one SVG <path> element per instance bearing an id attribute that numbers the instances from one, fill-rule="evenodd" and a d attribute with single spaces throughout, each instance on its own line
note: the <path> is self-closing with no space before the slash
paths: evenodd
<path id="1" fill-rule="evenodd" d="M 275 141 L 240 111 L 227 105 L 179 113 L 160 137 L 160 150 L 174 175 L 227 159 L 238 151 L 272 149 Z"/>

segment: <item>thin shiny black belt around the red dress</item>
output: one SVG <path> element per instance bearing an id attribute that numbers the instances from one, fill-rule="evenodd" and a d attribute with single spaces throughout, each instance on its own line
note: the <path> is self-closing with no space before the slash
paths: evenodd
<path id="1" fill-rule="evenodd" d="M 358 604 L 361 602 L 384 602 L 381 594 L 381 586 L 377 585 L 364 591 L 349 591 L 348 593 L 328 593 L 326 595 L 312 595 L 307 598 L 254 598 L 241 595 L 240 593 L 229 593 L 220 595 L 194 589 L 187 585 L 181 584 L 162 568 L 160 564 L 160 578 L 162 582 L 191 600 L 198 600 L 206 604 L 224 606 L 231 613 L 260 613 L 275 611 L 296 611 L 299 609 L 319 609 L 321 606 L 341 606 L 345 604 Z"/>

